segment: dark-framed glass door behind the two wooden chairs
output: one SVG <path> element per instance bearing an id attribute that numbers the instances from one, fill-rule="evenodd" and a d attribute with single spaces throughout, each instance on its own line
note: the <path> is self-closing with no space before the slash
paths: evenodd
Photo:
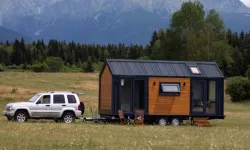
<path id="1" fill-rule="evenodd" d="M 134 113 L 146 108 L 146 79 L 120 78 L 118 109 Z"/>

